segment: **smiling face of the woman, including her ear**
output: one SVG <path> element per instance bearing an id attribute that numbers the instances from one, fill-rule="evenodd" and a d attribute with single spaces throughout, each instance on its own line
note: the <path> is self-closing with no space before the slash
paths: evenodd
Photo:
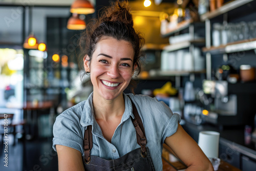
<path id="1" fill-rule="evenodd" d="M 84 69 L 91 72 L 94 99 L 113 100 L 122 97 L 134 73 L 132 44 L 110 37 L 101 39 L 91 61 L 85 58 L 89 57 L 84 57 Z"/>

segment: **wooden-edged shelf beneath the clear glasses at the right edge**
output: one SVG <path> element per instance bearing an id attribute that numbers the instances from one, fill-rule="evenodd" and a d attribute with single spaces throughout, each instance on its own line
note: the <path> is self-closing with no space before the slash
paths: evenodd
<path id="1" fill-rule="evenodd" d="M 203 52 L 209 52 L 211 54 L 223 54 L 233 53 L 256 49 L 256 38 L 241 40 L 229 43 L 227 45 L 221 45 L 218 47 L 203 48 Z"/>

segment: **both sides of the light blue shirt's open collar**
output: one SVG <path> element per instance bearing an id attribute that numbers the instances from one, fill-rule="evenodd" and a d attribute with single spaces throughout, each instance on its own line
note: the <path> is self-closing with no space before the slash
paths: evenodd
<path id="1" fill-rule="evenodd" d="M 124 97 L 125 110 L 121 119 L 121 123 L 129 119 L 130 116 L 132 116 L 132 118 L 134 119 L 134 114 L 132 113 L 132 109 L 133 109 L 132 102 L 128 97 L 128 95 L 123 93 L 123 97 Z M 87 101 L 84 103 L 80 124 L 82 126 L 93 125 L 94 127 L 95 123 L 96 123 L 96 120 L 95 120 L 94 111 L 93 111 L 93 92 L 92 92 L 88 97 Z"/>

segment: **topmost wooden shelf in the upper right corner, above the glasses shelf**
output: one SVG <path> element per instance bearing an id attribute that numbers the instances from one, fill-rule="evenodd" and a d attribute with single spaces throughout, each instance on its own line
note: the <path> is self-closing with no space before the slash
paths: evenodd
<path id="1" fill-rule="evenodd" d="M 228 11 L 241 7 L 247 3 L 252 2 L 253 0 L 233 0 L 227 4 L 224 4 L 222 7 L 216 9 L 215 11 L 207 12 L 200 16 L 201 21 L 205 21 L 206 19 L 211 19 L 221 14 L 224 14 Z"/>

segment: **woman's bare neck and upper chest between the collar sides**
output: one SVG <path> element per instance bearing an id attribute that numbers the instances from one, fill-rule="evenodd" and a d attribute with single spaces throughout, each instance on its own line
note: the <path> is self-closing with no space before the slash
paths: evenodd
<path id="1" fill-rule="evenodd" d="M 93 109 L 96 120 L 108 121 L 113 117 L 120 117 L 125 110 L 123 95 L 113 99 L 93 98 Z"/>

